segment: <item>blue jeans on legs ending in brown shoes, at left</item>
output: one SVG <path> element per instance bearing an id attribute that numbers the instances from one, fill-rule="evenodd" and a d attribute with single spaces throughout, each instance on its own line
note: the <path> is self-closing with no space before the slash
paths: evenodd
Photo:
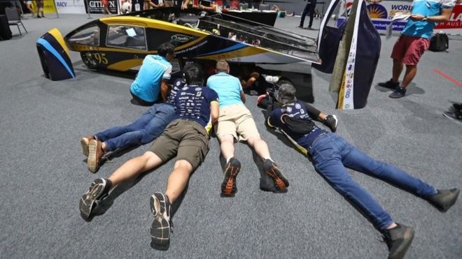
<path id="1" fill-rule="evenodd" d="M 109 128 L 95 136 L 98 140 L 106 142 L 107 151 L 141 146 L 158 138 L 165 126 L 172 121 L 174 114 L 173 105 L 158 103 L 151 106 L 134 123 Z"/>

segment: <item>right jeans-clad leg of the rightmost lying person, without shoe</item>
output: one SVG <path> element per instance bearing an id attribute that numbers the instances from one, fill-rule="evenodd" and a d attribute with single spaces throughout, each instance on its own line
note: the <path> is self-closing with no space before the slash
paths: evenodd
<path id="1" fill-rule="evenodd" d="M 337 138 L 340 139 L 338 136 Z M 421 198 L 426 198 L 436 193 L 435 188 L 420 179 L 412 177 L 404 170 L 367 156 L 367 154 L 364 154 L 345 140 L 341 139 L 339 141 L 346 146 L 342 153 L 342 162 L 347 168 L 377 177 Z"/>

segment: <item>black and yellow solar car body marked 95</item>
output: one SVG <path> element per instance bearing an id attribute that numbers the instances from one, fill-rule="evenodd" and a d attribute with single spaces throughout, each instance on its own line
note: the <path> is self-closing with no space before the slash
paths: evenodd
<path id="1" fill-rule="evenodd" d="M 64 38 L 89 68 L 129 71 L 160 44 L 188 59 L 250 64 L 319 62 L 316 39 L 221 13 L 160 8 L 88 22 Z"/>

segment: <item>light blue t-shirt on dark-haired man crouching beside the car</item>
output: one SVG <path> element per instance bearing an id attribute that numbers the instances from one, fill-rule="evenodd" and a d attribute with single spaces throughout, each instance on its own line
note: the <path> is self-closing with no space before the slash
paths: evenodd
<path id="1" fill-rule="evenodd" d="M 159 55 L 147 55 L 144 60 L 137 78 L 135 78 L 130 91 L 146 102 L 158 100 L 160 91 L 160 81 L 169 80 L 172 73 L 172 64 Z"/>

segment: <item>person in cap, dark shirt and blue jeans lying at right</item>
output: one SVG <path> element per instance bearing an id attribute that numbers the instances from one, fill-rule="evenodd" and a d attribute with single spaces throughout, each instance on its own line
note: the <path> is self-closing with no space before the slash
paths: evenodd
<path id="1" fill-rule="evenodd" d="M 403 258 L 414 237 L 414 229 L 395 223 L 391 216 L 348 174 L 346 168 L 363 172 L 412 193 L 446 212 L 456 202 L 459 190 L 437 190 L 393 165 L 377 161 L 346 142 L 335 133 L 318 128 L 307 107 L 295 98 L 292 84 L 281 84 L 274 98 L 281 105 L 269 105 L 266 124 L 279 128 L 305 155 L 311 158 L 316 172 L 344 198 L 348 198 L 372 221 L 388 245 L 388 258 Z"/>

